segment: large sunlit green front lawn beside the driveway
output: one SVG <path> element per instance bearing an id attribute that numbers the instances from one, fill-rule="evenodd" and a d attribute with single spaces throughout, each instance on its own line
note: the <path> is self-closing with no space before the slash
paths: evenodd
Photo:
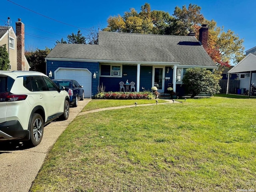
<path id="1" fill-rule="evenodd" d="M 180 101 L 78 116 L 31 191 L 256 190 L 256 99 Z"/>

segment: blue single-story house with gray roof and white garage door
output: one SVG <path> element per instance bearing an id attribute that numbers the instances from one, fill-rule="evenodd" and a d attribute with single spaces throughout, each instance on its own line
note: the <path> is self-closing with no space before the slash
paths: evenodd
<path id="1" fill-rule="evenodd" d="M 200 29 L 199 39 L 194 32 L 170 36 L 100 31 L 98 45 L 57 44 L 46 56 L 46 74 L 77 80 L 84 86 L 86 98 L 94 96 L 102 84 L 105 91 L 119 91 L 119 82 L 126 80 L 135 82 L 137 92 L 151 91 L 152 86 L 166 92 L 172 86 L 182 95 L 187 68 L 216 69 L 204 50 L 206 25 Z"/>

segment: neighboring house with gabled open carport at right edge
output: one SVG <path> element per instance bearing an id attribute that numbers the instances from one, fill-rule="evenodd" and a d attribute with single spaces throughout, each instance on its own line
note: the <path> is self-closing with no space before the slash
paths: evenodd
<path id="1" fill-rule="evenodd" d="M 228 82 L 232 74 L 238 74 L 241 94 L 250 89 L 252 83 L 256 84 L 256 47 L 246 51 L 246 56 L 228 71 Z M 229 84 L 227 85 L 228 88 Z M 228 90 L 228 89 L 227 89 Z M 228 91 L 227 91 L 228 94 Z"/>

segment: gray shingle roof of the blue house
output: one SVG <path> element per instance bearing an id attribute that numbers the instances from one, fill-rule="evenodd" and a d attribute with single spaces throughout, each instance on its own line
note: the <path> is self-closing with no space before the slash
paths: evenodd
<path id="1" fill-rule="evenodd" d="M 98 45 L 57 44 L 47 58 L 216 65 L 194 36 L 99 32 Z"/>

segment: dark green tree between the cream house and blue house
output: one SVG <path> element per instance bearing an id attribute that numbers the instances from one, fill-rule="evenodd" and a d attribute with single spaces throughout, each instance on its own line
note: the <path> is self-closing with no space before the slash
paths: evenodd
<path id="1" fill-rule="evenodd" d="M 44 58 L 46 58 L 50 51 L 46 47 L 45 50 L 36 49 L 35 52 L 26 52 L 25 56 L 30 65 L 30 71 L 38 71 L 46 74 L 46 62 Z"/>

